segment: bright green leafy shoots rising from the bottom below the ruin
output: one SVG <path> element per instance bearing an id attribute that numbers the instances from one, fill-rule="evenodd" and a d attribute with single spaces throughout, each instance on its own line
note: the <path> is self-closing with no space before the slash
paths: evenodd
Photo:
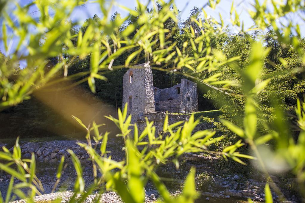
<path id="1" fill-rule="evenodd" d="M 116 191 L 124 202 L 144 202 L 145 191 L 144 187 L 147 181 L 151 180 L 160 193 L 164 202 L 194 202 L 198 197 L 195 189 L 195 169 L 192 169 L 185 180 L 185 187 L 178 197 L 171 197 L 170 192 L 162 183 L 160 177 L 156 174 L 155 170 L 158 165 L 173 162 L 176 167 L 179 167 L 178 158 L 188 152 L 208 152 L 207 146 L 214 142 L 221 140 L 221 137 L 213 138 L 215 131 L 203 130 L 193 133 L 194 128 L 199 123 L 199 120 L 194 121 L 194 115 L 188 121 L 185 121 L 183 127 L 179 126 L 180 122 L 168 124 L 166 117 L 163 132 L 159 136 L 155 136 L 155 126 L 153 122 L 146 121 L 145 129 L 139 133 L 136 124 L 131 124 L 131 115 L 127 117 L 127 105 L 123 112 L 118 110 L 119 119 L 109 116 L 108 118 L 117 124 L 121 131 L 119 136 L 124 138 L 124 151 L 125 159 L 123 161 L 116 161 L 108 156 L 106 150 L 108 133 L 100 134 L 99 127 L 101 125 L 95 124 L 93 121 L 92 127 L 86 127 L 80 119 L 74 119 L 87 131 L 87 144 L 78 143 L 88 153 L 92 161 L 92 170 L 94 175 L 93 183 L 87 183 L 88 189 L 85 192 L 85 182 L 82 177 L 81 162 L 72 150 L 68 152 L 71 154 L 71 160 L 77 173 L 74 184 L 74 196 L 70 202 L 76 201 L 76 194 L 81 193 L 81 198 L 85 199 L 92 191 L 98 190 L 102 193 L 104 189 Z M 179 126 L 177 128 L 177 126 Z M 133 128 L 133 134 L 131 130 Z M 175 130 L 174 130 L 175 129 Z M 91 136 L 95 142 L 100 143 L 99 149 L 97 145 L 92 147 Z M 237 143 L 238 147 L 239 143 Z M 249 156 L 239 155 L 234 152 L 237 147 L 231 149 L 231 157 L 245 157 Z M 6 197 L 6 202 L 13 201 L 14 196 L 11 198 L 11 192 L 19 198 L 30 198 L 29 201 L 33 202 L 33 197 L 43 191 L 43 187 L 35 175 L 35 159 L 21 159 L 21 151 L 18 145 L 18 140 L 13 149 L 13 154 L 3 147 L 4 152 L 0 152 L 0 158 L 8 161 L 6 164 L 0 164 L 0 169 L 12 175 L 12 178 L 18 178 L 21 183 L 10 183 L 10 189 Z M 224 153 L 227 155 L 227 153 Z M 30 166 L 27 165 L 30 163 Z M 16 166 L 17 170 L 14 169 Z M 56 185 L 59 183 L 61 170 L 63 169 L 63 158 L 59 165 L 57 172 Z M 97 176 L 97 172 L 102 175 Z M 12 179 L 13 180 L 13 179 Z M 54 187 L 56 187 L 56 185 Z M 20 188 L 27 188 L 30 196 L 20 190 Z M 79 200 L 77 200 L 79 201 Z"/>

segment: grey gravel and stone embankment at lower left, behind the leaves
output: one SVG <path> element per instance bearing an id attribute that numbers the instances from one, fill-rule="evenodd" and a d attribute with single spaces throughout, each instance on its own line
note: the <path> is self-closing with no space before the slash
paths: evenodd
<path id="1" fill-rule="evenodd" d="M 76 154 L 79 154 L 81 148 L 77 145 L 79 141 L 53 141 L 53 142 L 36 142 L 36 143 L 20 143 L 21 149 L 24 153 L 29 153 L 29 151 L 36 152 L 41 150 L 42 152 L 50 149 L 72 149 Z M 1 143 L 2 144 L 2 143 Z M 100 144 L 100 143 L 98 143 Z M 4 144 L 2 144 L 4 145 Z M 124 151 L 122 151 L 122 143 L 116 142 L 115 140 L 110 140 L 107 145 L 107 150 L 110 151 L 108 156 L 112 156 L 112 159 L 116 161 L 121 161 L 124 159 Z M 99 148 L 99 146 L 97 146 Z M 89 162 L 82 162 L 83 166 L 83 178 L 86 183 L 86 187 L 93 182 L 93 172 L 92 166 L 88 164 Z M 60 180 L 60 183 L 55 189 L 55 192 L 52 193 L 53 187 L 56 183 L 56 173 L 58 162 L 55 163 L 46 163 L 37 161 L 36 167 L 36 176 L 41 181 L 43 185 L 44 191 L 41 191 L 43 195 L 36 196 L 34 198 L 35 202 L 47 202 L 56 200 L 57 198 L 61 198 L 64 203 L 69 200 L 69 198 L 73 195 L 74 181 L 76 180 L 77 174 L 74 170 L 73 164 L 67 162 L 67 167 L 63 170 L 63 174 Z M 9 186 L 10 175 L 5 173 L 0 173 L 0 191 L 2 193 L 2 197 L 6 197 L 7 188 Z M 15 178 L 14 183 L 18 183 L 19 180 Z M 91 203 L 96 197 L 96 194 L 92 194 L 88 196 L 85 203 Z M 153 188 L 151 184 L 148 184 L 146 187 L 146 202 L 155 201 L 158 197 L 156 190 Z M 25 200 L 18 200 L 15 198 L 14 202 L 26 202 Z M 102 198 L 100 202 L 122 202 L 120 196 L 116 192 L 107 191 L 102 194 Z"/>

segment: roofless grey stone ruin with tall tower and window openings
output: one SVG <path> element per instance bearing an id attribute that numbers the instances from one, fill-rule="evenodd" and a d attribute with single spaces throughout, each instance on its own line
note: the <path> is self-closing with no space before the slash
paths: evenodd
<path id="1" fill-rule="evenodd" d="M 123 107 L 125 103 L 128 103 L 127 114 L 132 115 L 132 123 L 149 114 L 156 116 L 158 112 L 191 113 L 198 111 L 197 84 L 181 79 L 178 85 L 159 89 L 153 86 L 151 66 L 135 65 L 123 78 Z"/>

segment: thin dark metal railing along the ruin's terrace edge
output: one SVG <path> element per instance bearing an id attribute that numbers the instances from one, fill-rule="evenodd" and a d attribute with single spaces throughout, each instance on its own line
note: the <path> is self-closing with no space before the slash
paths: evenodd
<path id="1" fill-rule="evenodd" d="M 149 104 L 154 104 L 152 107 L 149 107 Z M 154 110 L 152 109 L 154 108 Z M 152 109 L 152 111 L 149 111 Z M 184 112 L 183 112 L 184 111 Z M 186 114 L 186 105 L 179 103 L 171 103 L 170 101 L 158 101 L 152 103 L 146 103 L 146 112 L 169 112 L 169 113 L 184 113 Z"/>

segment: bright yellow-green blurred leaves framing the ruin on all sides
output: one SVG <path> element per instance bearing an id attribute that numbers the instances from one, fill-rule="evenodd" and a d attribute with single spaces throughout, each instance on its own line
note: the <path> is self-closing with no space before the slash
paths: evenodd
<path id="1" fill-rule="evenodd" d="M 151 9 L 137 1 L 135 10 L 121 6 L 129 12 L 128 16 L 116 13 L 111 17 L 109 12 L 116 2 L 98 1 L 103 16 L 94 16 L 86 20 L 81 29 L 76 29 L 76 24 L 70 21 L 71 13 L 86 2 L 35 0 L 24 6 L 17 3 L 12 12 L 7 12 L 3 8 L 10 2 L 2 1 L 4 51 L 8 51 L 8 42 L 13 37 L 17 46 L 9 57 L 1 55 L 0 110 L 16 106 L 30 99 L 33 92 L 63 81 L 73 81 L 75 86 L 87 82 L 92 93 L 98 92 L 101 97 L 111 95 L 109 101 L 114 100 L 119 107 L 121 83 L 117 78 L 124 74 L 122 68 L 145 62 L 152 65 L 155 81 L 163 86 L 173 85 L 184 76 L 197 82 L 199 88 L 206 87 L 209 90 L 206 98 L 223 113 L 222 124 L 217 126 L 223 136 L 213 138 L 215 131 L 211 130 L 193 134 L 192 130 L 199 123 L 193 116 L 177 131 L 172 129 L 181 123 L 168 125 L 166 119 L 159 137 L 155 137 L 155 127 L 149 121 L 145 130 L 138 133 L 124 108 L 123 113 L 118 111 L 118 118 L 108 117 L 120 129 L 119 135 L 125 143 L 126 159 L 115 162 L 106 156 L 108 133 L 99 134 L 102 124 L 93 121 L 90 127 L 89 123 L 83 124 L 73 117 L 87 132 L 88 145 L 80 145 L 91 156 L 95 176 L 93 185 L 84 192 L 80 161 L 70 151 L 77 171 L 75 192 L 82 193 L 81 200 L 100 184 L 106 184 L 107 189 L 117 191 L 125 202 L 143 202 L 143 187 L 152 180 L 163 201 L 193 202 L 198 197 L 195 170 L 186 178 L 182 194 L 171 198 L 154 172 L 156 165 L 171 160 L 179 167 L 178 157 L 183 153 L 207 152 L 206 146 L 230 136 L 238 139 L 223 145 L 222 152 L 215 153 L 241 164 L 246 164 L 245 158 L 257 160 L 258 169 L 267 177 L 274 168 L 266 158 L 277 157 L 280 160 L 277 170 L 292 172 L 301 194 L 304 193 L 305 114 L 304 103 L 299 99 L 305 88 L 304 38 L 300 33 L 301 24 L 289 19 L 289 14 L 303 12 L 303 1 L 255 1 L 249 10 L 255 24 L 248 30 L 244 30 L 233 2 L 231 23 L 226 25 L 221 14 L 218 22 L 204 10 L 207 6 L 215 9 L 218 0 L 210 0 L 201 9 L 195 7 L 183 23 L 179 22 L 174 1 L 153 3 Z M 30 8 L 38 9 L 39 20 L 29 13 Z M 281 22 L 282 19 L 288 19 L 288 23 Z M 36 31 L 30 32 L 33 27 Z M 231 34 L 228 27 L 239 33 Z M 18 65 L 21 60 L 27 62 L 22 70 Z M 114 83 L 116 85 L 112 85 Z M 291 124 L 294 124 L 293 133 Z M 102 141 L 100 149 L 91 147 L 91 132 L 96 142 Z M 140 150 L 138 146 L 142 145 Z M 244 145 L 253 156 L 239 151 Z M 18 140 L 13 153 L 6 148 L 3 151 L 0 157 L 8 162 L 1 163 L 0 168 L 12 175 L 4 201 L 10 201 L 13 192 L 20 198 L 29 196 L 32 202 L 33 196 L 43 191 L 34 173 L 34 156 L 21 159 Z M 97 170 L 102 172 L 102 177 L 96 176 Z M 58 179 L 60 174 L 59 170 Z M 13 184 L 14 177 L 21 183 Z M 267 178 L 265 200 L 268 203 L 273 201 L 271 189 L 279 191 L 271 182 L 271 178 Z M 28 188 L 29 193 L 23 193 L 20 188 Z M 76 201 L 76 193 L 70 202 Z"/>

